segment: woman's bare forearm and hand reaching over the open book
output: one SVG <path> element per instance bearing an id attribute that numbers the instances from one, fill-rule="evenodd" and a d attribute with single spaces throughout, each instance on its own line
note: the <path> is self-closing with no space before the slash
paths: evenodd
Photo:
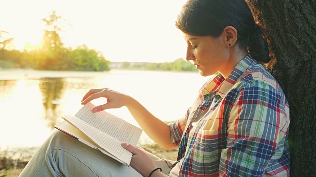
<path id="1" fill-rule="evenodd" d="M 81 104 L 86 104 L 101 97 L 106 98 L 107 103 L 96 106 L 93 112 L 126 106 L 146 134 L 159 146 L 166 150 L 176 148 L 171 142 L 169 125 L 156 118 L 142 104 L 128 95 L 108 88 L 92 89 L 84 95 Z"/>

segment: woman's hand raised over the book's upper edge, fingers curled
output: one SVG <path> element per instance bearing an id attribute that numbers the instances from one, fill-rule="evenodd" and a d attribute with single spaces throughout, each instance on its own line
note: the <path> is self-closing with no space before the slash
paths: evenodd
<path id="1" fill-rule="evenodd" d="M 108 88 L 91 89 L 84 95 L 81 104 L 87 104 L 88 102 L 101 97 L 106 98 L 107 103 L 93 108 L 93 113 L 109 108 L 120 108 L 126 106 L 128 101 L 131 99 L 130 96 L 127 96 L 125 94 L 119 93 Z"/>

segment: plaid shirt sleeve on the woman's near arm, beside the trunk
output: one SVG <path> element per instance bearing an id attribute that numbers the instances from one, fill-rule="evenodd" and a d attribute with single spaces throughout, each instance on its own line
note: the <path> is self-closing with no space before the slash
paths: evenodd
<path id="1" fill-rule="evenodd" d="M 261 177 L 283 139 L 288 124 L 284 102 L 272 86 L 253 81 L 233 103 L 222 150 L 219 174 L 223 177 Z"/>

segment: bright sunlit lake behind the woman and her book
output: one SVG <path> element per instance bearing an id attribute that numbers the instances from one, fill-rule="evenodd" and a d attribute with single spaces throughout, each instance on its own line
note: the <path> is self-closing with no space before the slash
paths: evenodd
<path id="1" fill-rule="evenodd" d="M 90 89 L 128 94 L 156 117 L 173 121 L 185 115 L 207 79 L 197 72 L 0 70 L 0 147 L 39 146 L 62 115 L 76 114 Z M 126 107 L 107 111 L 138 126 Z M 153 141 L 143 132 L 139 143 Z"/>

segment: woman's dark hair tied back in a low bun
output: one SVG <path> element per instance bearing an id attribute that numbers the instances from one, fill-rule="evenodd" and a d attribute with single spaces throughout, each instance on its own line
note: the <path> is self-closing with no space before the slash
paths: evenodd
<path id="1" fill-rule="evenodd" d="M 226 26 L 237 30 L 238 45 L 254 59 L 271 60 L 267 36 L 245 0 L 188 0 L 176 20 L 178 29 L 193 36 L 219 37 Z"/>

